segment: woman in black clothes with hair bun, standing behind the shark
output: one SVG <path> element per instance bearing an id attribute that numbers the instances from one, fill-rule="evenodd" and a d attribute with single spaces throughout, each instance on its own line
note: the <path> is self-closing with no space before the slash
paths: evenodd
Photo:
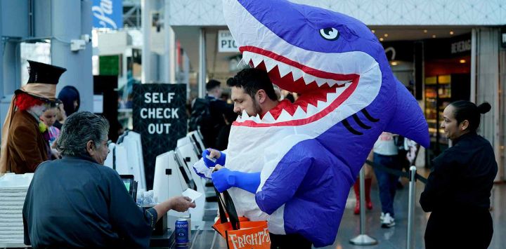
<path id="1" fill-rule="evenodd" d="M 425 230 L 426 248 L 487 248 L 493 227 L 490 196 L 498 171 L 492 146 L 476 134 L 480 114 L 491 109 L 469 101 L 453 102 L 441 128 L 453 141 L 433 161 L 420 205 L 432 212 Z"/>

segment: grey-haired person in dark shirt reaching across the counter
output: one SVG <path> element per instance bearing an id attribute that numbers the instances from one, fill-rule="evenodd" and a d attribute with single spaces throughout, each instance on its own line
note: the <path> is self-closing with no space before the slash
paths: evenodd
<path id="1" fill-rule="evenodd" d="M 22 210 L 25 244 L 34 248 L 148 248 L 155 223 L 169 210 L 195 208 L 169 198 L 142 210 L 118 173 L 103 166 L 109 123 L 91 112 L 70 115 L 58 138 L 63 159 L 41 163 Z"/>

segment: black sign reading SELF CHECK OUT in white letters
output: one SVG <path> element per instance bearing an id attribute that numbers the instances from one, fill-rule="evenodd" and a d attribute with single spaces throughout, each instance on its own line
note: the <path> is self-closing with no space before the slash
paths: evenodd
<path id="1" fill-rule="evenodd" d="M 156 157 L 186 136 L 186 84 L 134 84 L 134 131 L 141 134 L 144 171 L 153 186 Z"/>

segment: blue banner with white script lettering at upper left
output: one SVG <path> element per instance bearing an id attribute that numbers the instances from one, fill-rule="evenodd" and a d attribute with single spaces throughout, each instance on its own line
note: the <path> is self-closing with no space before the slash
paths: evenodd
<path id="1" fill-rule="evenodd" d="M 93 27 L 120 29 L 123 27 L 122 0 L 93 0 Z"/>

